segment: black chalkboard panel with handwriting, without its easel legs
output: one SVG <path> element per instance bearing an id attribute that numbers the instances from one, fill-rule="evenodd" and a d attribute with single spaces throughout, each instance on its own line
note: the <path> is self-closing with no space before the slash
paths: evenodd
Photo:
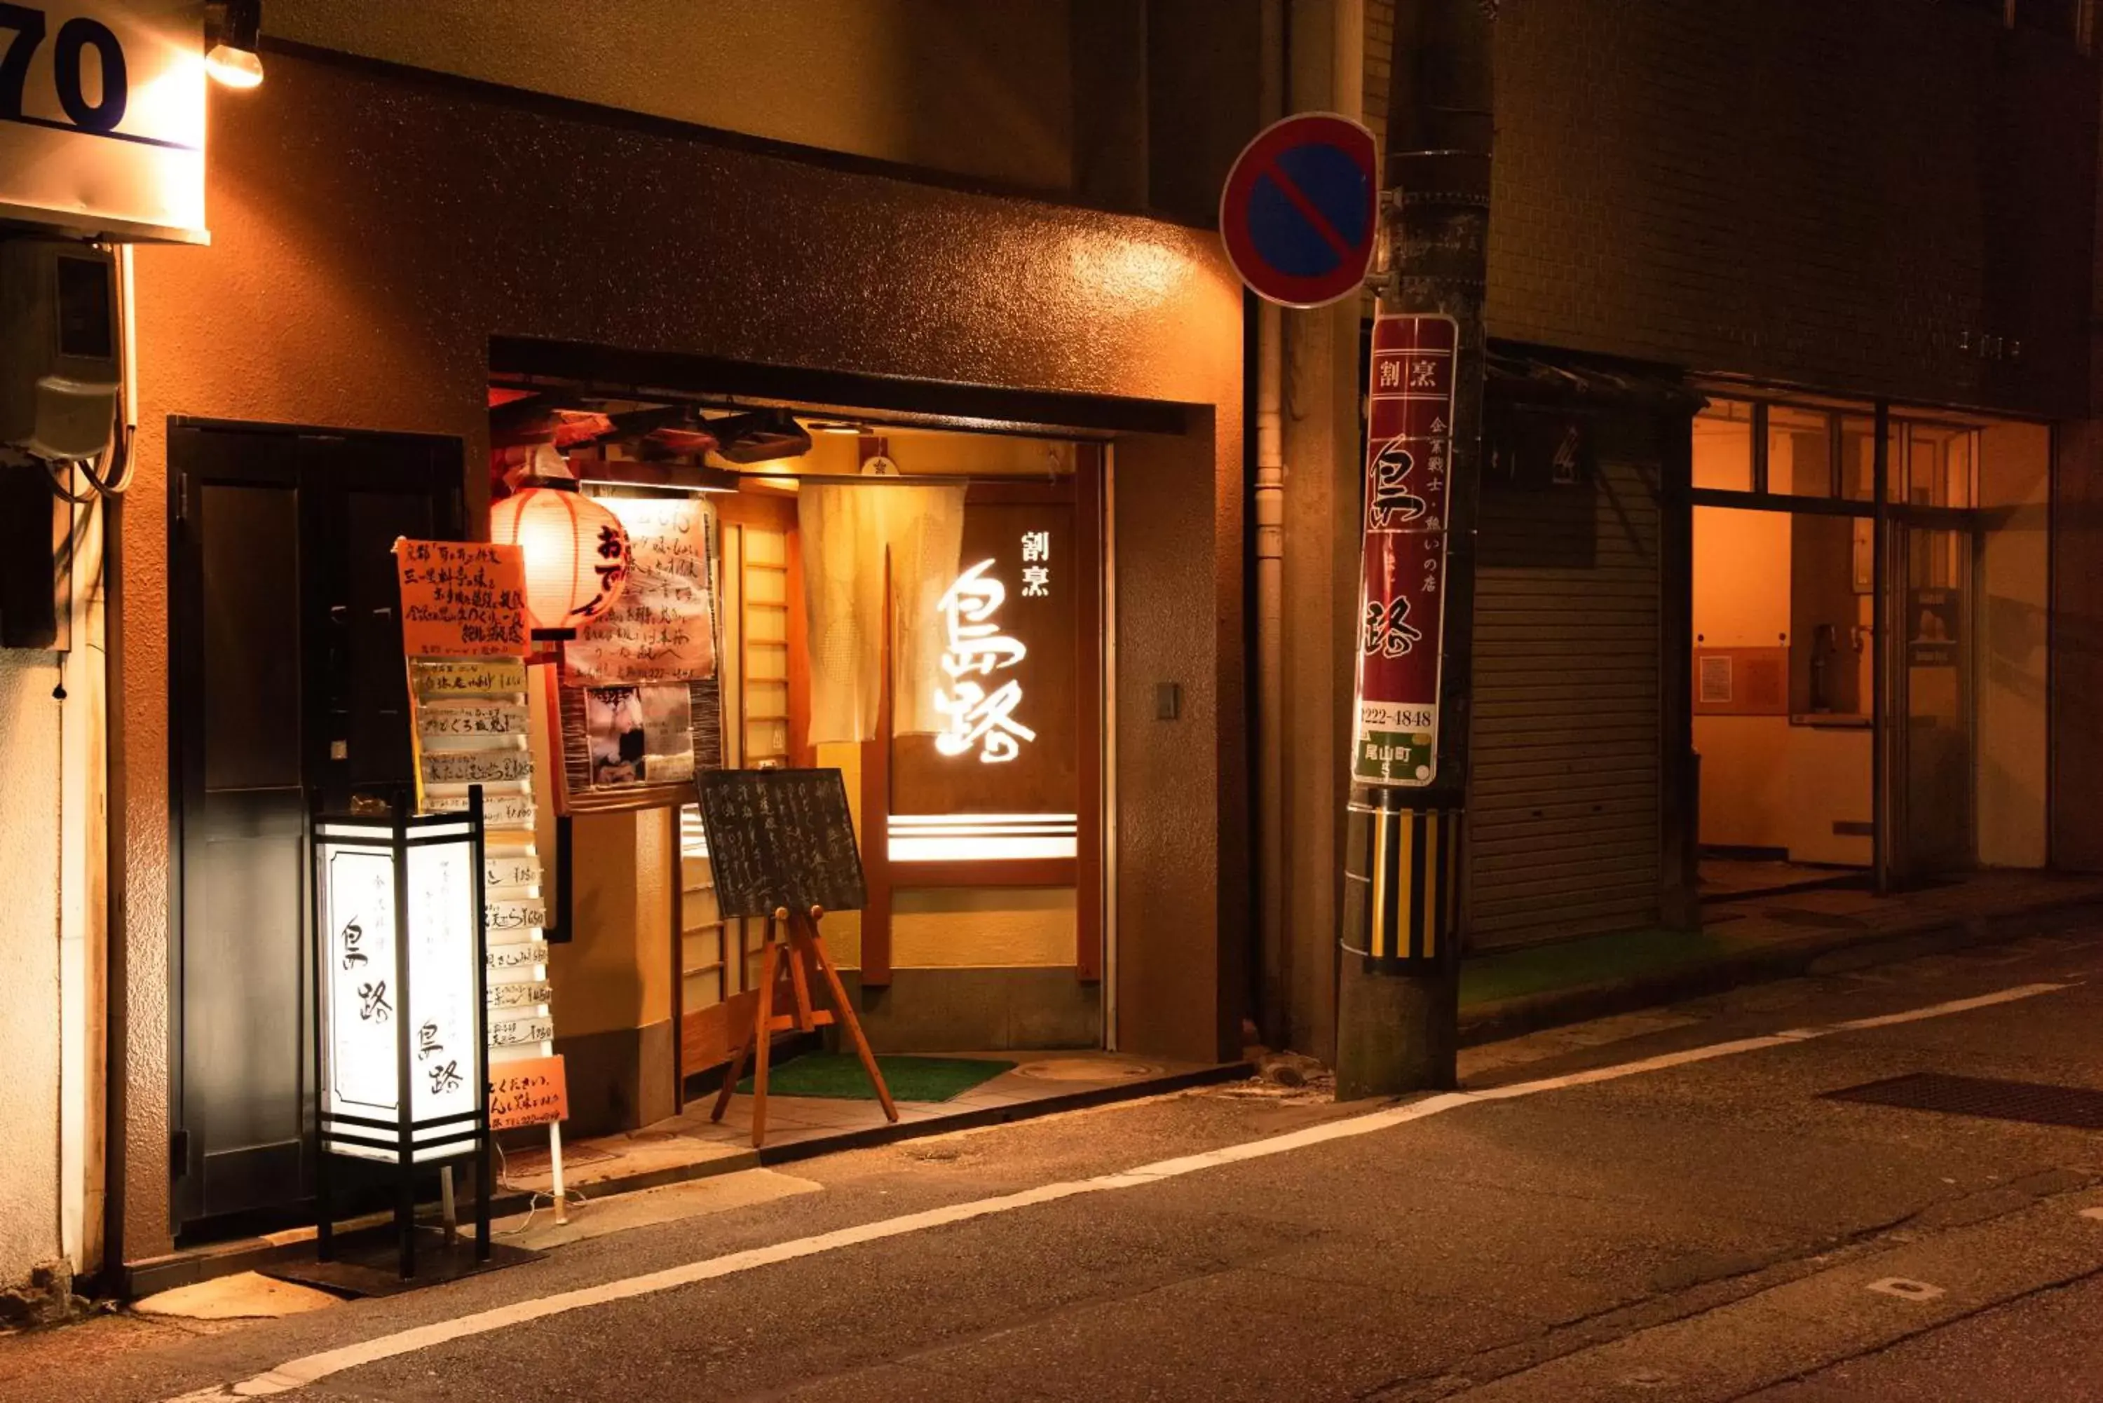
<path id="1" fill-rule="evenodd" d="M 726 917 L 866 904 L 839 770 L 707 770 L 700 814 Z"/>

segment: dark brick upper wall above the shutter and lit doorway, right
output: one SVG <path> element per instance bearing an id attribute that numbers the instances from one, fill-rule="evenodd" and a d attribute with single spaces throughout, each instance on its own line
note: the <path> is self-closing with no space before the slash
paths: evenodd
<path id="1" fill-rule="evenodd" d="M 1491 332 L 2082 414 L 2097 95 L 2063 38 L 1949 0 L 1508 0 Z"/>

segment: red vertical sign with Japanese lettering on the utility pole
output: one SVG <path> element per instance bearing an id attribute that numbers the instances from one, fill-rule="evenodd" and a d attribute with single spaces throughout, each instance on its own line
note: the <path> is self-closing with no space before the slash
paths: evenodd
<path id="1" fill-rule="evenodd" d="M 1438 755 L 1453 360 L 1447 316 L 1373 322 L 1352 778 L 1424 787 Z"/>

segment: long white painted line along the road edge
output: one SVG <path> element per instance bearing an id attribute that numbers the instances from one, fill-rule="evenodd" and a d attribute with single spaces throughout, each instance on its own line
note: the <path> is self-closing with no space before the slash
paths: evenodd
<path id="1" fill-rule="evenodd" d="M 254 1378 L 246 1378 L 238 1384 L 185 1392 L 179 1399 L 168 1399 L 166 1403 L 215 1403 L 225 1399 L 257 1399 L 273 1392 L 288 1392 L 292 1388 L 303 1388 L 305 1384 L 328 1378 L 330 1374 L 343 1374 L 345 1369 L 379 1363 L 381 1359 L 412 1355 L 416 1350 L 427 1350 L 431 1346 L 448 1344 L 452 1340 L 465 1340 L 469 1336 L 488 1334 L 492 1329 L 509 1329 L 511 1325 L 524 1325 L 528 1321 L 547 1319 L 551 1315 L 564 1315 L 568 1310 L 583 1310 L 587 1306 L 604 1306 L 616 1300 L 629 1300 L 633 1296 L 669 1292 L 673 1287 L 694 1285 L 696 1281 L 732 1277 L 738 1273 L 755 1270 L 759 1266 L 772 1266 L 776 1262 L 793 1262 L 797 1258 L 818 1256 L 822 1252 L 837 1252 L 841 1247 L 854 1247 L 860 1243 L 873 1243 L 885 1237 L 921 1233 L 925 1228 L 938 1228 L 951 1222 L 969 1222 L 972 1218 L 1012 1214 L 1022 1207 L 1054 1203 L 1058 1199 L 1070 1199 L 1081 1193 L 1138 1188 L 1142 1184 L 1159 1184 L 1161 1180 L 1178 1178 L 1182 1174 L 1197 1174 L 1199 1170 L 1218 1170 L 1222 1165 L 1243 1163 L 1249 1159 L 1289 1155 L 1291 1151 L 1302 1151 L 1312 1144 L 1327 1144 L 1331 1140 L 1371 1136 L 1382 1130 L 1392 1130 L 1394 1125 L 1422 1121 L 1432 1115 L 1443 1115 L 1447 1111 L 1455 1111 L 1459 1106 L 1468 1106 L 1474 1102 L 1539 1096 L 1541 1092 L 1560 1092 L 1565 1087 L 1575 1087 L 1575 1085 L 1594 1085 L 1600 1081 L 1617 1081 L 1621 1077 L 1640 1077 L 1645 1073 L 1668 1071 L 1672 1066 L 1687 1066 L 1691 1062 L 1708 1062 L 1714 1058 L 1729 1058 L 1741 1052 L 1760 1052 L 1764 1048 L 1788 1048 L 1792 1043 L 1800 1043 L 1813 1037 L 1832 1037 L 1834 1033 L 1859 1033 L 1863 1029 L 1884 1029 L 1899 1022 L 1918 1022 L 1922 1018 L 1943 1018 L 1949 1014 L 1964 1014 L 1977 1008 L 1992 1008 L 1996 1003 L 2034 999 L 2042 993 L 2053 993 L 2065 987 L 2067 984 L 2023 984 L 2019 989 L 2002 989 L 2000 993 L 1979 995 L 1977 999 L 1952 999 L 1949 1003 L 1931 1003 L 1926 1008 L 1914 1008 L 1901 1014 L 1884 1014 L 1880 1018 L 1855 1018 L 1851 1022 L 1834 1022 L 1817 1029 L 1790 1029 L 1785 1033 L 1771 1033 L 1767 1037 L 1739 1037 L 1729 1043 L 1710 1043 L 1706 1048 L 1668 1052 L 1655 1058 L 1640 1058 L 1636 1062 L 1617 1062 L 1613 1066 L 1596 1066 L 1592 1071 L 1567 1073 L 1563 1077 L 1539 1077 L 1535 1081 L 1518 1081 L 1514 1085 L 1491 1087 L 1487 1092 L 1445 1092 L 1441 1096 L 1430 1096 L 1426 1100 L 1409 1102 L 1407 1106 L 1388 1106 L 1386 1111 L 1371 1111 L 1367 1115 L 1354 1115 L 1342 1121 L 1308 1125 L 1306 1130 L 1295 1130 L 1283 1136 L 1268 1136 L 1264 1140 L 1228 1144 L 1218 1151 L 1205 1151 L 1203 1155 L 1182 1155 L 1178 1159 L 1161 1159 L 1157 1163 L 1140 1165 L 1136 1170 L 1125 1170 L 1121 1174 L 1102 1174 L 1085 1180 L 1041 1184 L 1037 1188 L 1024 1188 L 1022 1193 L 1009 1193 L 997 1199 L 974 1199 L 969 1203 L 951 1203 L 948 1207 L 930 1207 L 919 1214 L 902 1214 L 898 1218 L 862 1222 L 850 1228 L 835 1228 L 833 1233 L 818 1233 L 816 1237 L 799 1237 L 795 1241 L 774 1243 L 770 1247 L 749 1247 L 744 1252 L 732 1252 L 728 1256 L 709 1258 L 705 1262 L 686 1262 L 681 1266 L 667 1266 L 665 1270 L 644 1273 L 639 1277 L 601 1281 L 597 1285 L 578 1287 L 574 1292 L 557 1292 L 553 1296 L 538 1296 L 534 1300 L 517 1300 L 507 1306 L 496 1306 L 492 1310 L 477 1310 L 473 1315 L 463 1315 L 450 1321 L 433 1321 L 431 1325 L 416 1325 L 414 1329 L 402 1329 L 391 1336 L 360 1340 L 358 1344 L 345 1344 L 341 1348 L 324 1350 L 320 1355 L 305 1355 L 301 1359 L 282 1363 L 275 1369 L 269 1369 L 267 1374 L 257 1374 Z"/>

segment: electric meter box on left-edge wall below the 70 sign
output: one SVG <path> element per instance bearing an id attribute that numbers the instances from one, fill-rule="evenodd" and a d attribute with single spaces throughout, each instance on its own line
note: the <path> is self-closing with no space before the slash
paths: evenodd
<path id="1" fill-rule="evenodd" d="M 0 444 L 40 459 L 103 452 L 122 379 L 116 257 L 0 240 Z"/>

